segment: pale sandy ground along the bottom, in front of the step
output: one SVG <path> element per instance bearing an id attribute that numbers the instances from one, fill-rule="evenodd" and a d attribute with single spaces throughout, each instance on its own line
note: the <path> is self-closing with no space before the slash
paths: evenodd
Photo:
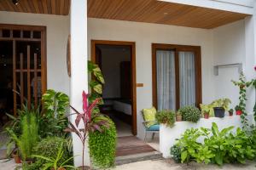
<path id="1" fill-rule="evenodd" d="M 135 163 L 125 164 L 117 167 L 113 167 L 109 170 L 255 170 L 256 162 L 250 161 L 246 165 L 226 164 L 223 167 L 216 165 L 203 165 L 197 163 L 190 163 L 189 166 L 186 164 L 177 164 L 172 160 L 157 160 L 157 161 L 138 161 Z M 1 170 L 14 170 L 15 161 L 3 161 L 0 160 Z"/>

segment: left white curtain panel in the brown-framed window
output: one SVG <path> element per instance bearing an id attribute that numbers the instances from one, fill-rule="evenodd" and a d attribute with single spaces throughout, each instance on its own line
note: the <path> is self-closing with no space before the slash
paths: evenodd
<path id="1" fill-rule="evenodd" d="M 158 110 L 175 110 L 175 53 L 156 51 L 157 107 Z"/>

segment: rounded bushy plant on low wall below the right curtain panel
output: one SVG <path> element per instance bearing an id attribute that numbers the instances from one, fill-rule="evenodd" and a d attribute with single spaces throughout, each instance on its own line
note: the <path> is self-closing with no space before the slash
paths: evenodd
<path id="1" fill-rule="evenodd" d="M 198 122 L 201 118 L 201 111 L 194 106 L 184 106 L 179 110 L 183 121 Z"/>

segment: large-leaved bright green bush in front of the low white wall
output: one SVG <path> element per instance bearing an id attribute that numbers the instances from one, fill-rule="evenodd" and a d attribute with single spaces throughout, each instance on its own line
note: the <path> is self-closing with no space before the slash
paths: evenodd
<path id="1" fill-rule="evenodd" d="M 231 133 L 233 127 L 226 127 L 218 131 L 218 126 L 212 122 L 212 129 L 201 127 L 200 129 L 188 129 L 178 140 L 177 147 L 181 150 L 181 162 L 195 160 L 204 163 L 224 162 L 245 163 L 246 160 L 255 158 L 256 150 L 252 138 L 241 128 L 236 133 Z M 198 142 L 200 137 L 204 143 Z"/>

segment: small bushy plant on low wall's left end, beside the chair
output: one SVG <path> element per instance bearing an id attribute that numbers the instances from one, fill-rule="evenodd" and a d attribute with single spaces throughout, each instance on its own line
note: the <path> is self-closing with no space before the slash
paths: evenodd
<path id="1" fill-rule="evenodd" d="M 166 124 L 167 127 L 172 127 L 175 123 L 175 112 L 169 110 L 158 111 L 155 118 L 157 122 Z"/>

